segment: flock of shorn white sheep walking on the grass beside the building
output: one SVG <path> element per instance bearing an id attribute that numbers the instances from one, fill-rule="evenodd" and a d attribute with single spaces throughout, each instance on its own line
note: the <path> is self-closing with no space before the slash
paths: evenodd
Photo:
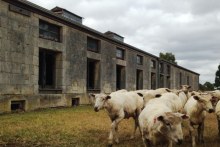
<path id="1" fill-rule="evenodd" d="M 131 138 L 139 127 L 144 146 L 166 143 L 172 147 L 173 142 L 183 141 L 182 122 L 186 120 L 196 146 L 196 129 L 198 141 L 204 142 L 204 120 L 206 112 L 215 112 L 220 129 L 220 91 L 207 93 L 189 91 L 190 86 L 182 85 L 180 90 L 159 88 L 156 90 L 119 90 L 110 95 L 104 93 L 89 94 L 94 101 L 94 110 L 106 109 L 112 121 L 108 145 L 113 141 L 119 143 L 117 130 L 121 120 L 133 117 L 135 128 Z"/>

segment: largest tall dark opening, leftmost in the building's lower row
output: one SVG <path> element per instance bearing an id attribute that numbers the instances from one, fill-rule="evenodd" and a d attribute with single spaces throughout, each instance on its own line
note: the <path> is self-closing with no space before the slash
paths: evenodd
<path id="1" fill-rule="evenodd" d="M 55 88 L 55 52 L 40 50 L 39 88 Z"/>

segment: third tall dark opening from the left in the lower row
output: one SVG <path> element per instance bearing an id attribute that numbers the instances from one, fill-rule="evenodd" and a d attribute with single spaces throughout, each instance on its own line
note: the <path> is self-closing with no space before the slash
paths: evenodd
<path id="1" fill-rule="evenodd" d="M 116 90 L 125 89 L 125 67 L 116 65 Z"/>

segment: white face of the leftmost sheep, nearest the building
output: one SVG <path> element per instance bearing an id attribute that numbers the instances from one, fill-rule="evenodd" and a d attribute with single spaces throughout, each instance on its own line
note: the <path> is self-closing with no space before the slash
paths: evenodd
<path id="1" fill-rule="evenodd" d="M 94 101 L 95 101 L 94 111 L 96 111 L 96 112 L 103 109 L 106 101 L 111 98 L 110 96 L 107 96 L 106 94 L 102 94 L 102 93 L 101 94 L 92 94 L 90 96 L 94 97 Z"/>

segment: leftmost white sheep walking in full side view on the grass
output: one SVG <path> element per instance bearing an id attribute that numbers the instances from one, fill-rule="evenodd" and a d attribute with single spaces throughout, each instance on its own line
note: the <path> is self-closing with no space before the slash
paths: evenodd
<path id="1" fill-rule="evenodd" d="M 141 95 L 141 94 L 140 94 Z M 135 128 L 131 138 L 134 137 L 138 127 L 138 116 L 143 108 L 143 97 L 135 92 L 113 92 L 106 94 L 90 94 L 95 97 L 94 110 L 98 112 L 100 109 L 106 109 L 112 121 L 109 133 L 109 146 L 112 146 L 113 139 L 119 143 L 117 128 L 121 120 L 133 117 L 135 120 Z"/>

